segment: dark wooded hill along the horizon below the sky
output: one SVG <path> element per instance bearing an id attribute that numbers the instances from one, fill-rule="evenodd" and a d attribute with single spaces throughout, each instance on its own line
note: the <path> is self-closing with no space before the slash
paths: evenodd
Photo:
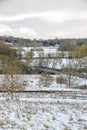
<path id="1" fill-rule="evenodd" d="M 23 46 L 32 46 L 33 44 L 38 46 L 55 46 L 59 45 L 61 43 L 71 43 L 71 44 L 77 44 L 77 45 L 82 45 L 82 44 L 87 44 L 87 38 L 82 38 L 82 39 L 48 39 L 48 40 L 43 40 L 43 39 L 25 39 L 25 38 L 19 38 L 19 37 L 13 37 L 13 36 L 0 36 L 0 40 L 8 43 L 13 43 L 17 45 L 23 45 Z"/>

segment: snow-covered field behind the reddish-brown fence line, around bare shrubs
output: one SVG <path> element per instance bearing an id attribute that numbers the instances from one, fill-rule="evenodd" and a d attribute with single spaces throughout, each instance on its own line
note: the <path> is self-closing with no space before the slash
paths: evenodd
<path id="1" fill-rule="evenodd" d="M 51 75 L 51 78 L 46 79 L 41 75 L 21 75 L 19 80 L 20 83 L 23 83 L 25 86 L 25 90 L 79 90 L 80 86 L 87 85 L 87 79 L 79 78 L 77 76 L 71 76 L 70 84 L 71 87 L 68 87 L 68 84 L 57 84 L 56 78 L 62 77 L 64 79 L 68 79 L 67 75 L 59 74 L 59 75 Z M 1 84 L 5 83 L 3 80 L 3 75 L 0 75 L 0 87 Z M 86 90 L 85 90 L 86 91 Z"/>

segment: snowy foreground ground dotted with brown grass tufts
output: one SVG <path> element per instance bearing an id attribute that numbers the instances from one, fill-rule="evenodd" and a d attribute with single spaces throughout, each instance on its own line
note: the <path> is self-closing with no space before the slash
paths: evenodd
<path id="1" fill-rule="evenodd" d="M 87 130 L 87 101 L 35 100 L 0 100 L 0 130 Z"/>

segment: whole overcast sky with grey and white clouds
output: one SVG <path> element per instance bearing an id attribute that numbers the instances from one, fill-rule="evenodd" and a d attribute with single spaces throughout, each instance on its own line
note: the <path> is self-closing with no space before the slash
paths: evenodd
<path id="1" fill-rule="evenodd" d="M 87 0 L 0 0 L 0 35 L 87 37 Z"/>

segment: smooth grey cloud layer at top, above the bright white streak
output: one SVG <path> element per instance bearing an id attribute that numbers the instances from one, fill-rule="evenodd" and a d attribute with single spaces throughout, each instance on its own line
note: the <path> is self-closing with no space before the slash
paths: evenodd
<path id="1" fill-rule="evenodd" d="M 4 4 L 0 5 L 0 14 L 16 15 L 46 10 L 87 10 L 86 3 L 86 0 L 4 0 Z"/>

